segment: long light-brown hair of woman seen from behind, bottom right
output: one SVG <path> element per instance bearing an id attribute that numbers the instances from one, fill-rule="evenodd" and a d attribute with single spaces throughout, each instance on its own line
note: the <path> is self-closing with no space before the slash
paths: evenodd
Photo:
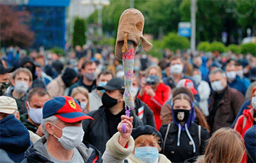
<path id="1" fill-rule="evenodd" d="M 241 135 L 231 128 L 220 128 L 213 133 L 206 146 L 206 154 L 198 157 L 198 163 L 239 163 L 245 146 Z"/>

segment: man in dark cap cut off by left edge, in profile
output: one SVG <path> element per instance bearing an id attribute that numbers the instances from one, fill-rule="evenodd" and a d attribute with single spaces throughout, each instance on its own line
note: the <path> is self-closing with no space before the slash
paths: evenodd
<path id="1" fill-rule="evenodd" d="M 14 71 L 14 67 L 4 68 L 4 65 L 0 63 L 0 96 L 4 94 L 6 89 L 10 85 L 10 72 Z"/>

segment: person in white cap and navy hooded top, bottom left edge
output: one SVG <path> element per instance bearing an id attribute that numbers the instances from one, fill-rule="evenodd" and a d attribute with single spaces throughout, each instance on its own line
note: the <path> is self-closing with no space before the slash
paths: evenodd
<path id="1" fill-rule="evenodd" d="M 18 113 L 15 99 L 9 96 L 0 96 L 0 149 L 4 150 L 14 162 L 24 159 L 24 152 L 31 145 L 28 130 L 15 118 Z M 2 155 L 0 162 L 7 157 Z M 7 157 L 7 158 L 8 158 Z"/>

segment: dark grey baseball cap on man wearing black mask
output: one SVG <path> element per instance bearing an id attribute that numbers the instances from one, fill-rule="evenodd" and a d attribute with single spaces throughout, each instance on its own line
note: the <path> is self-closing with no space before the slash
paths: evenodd
<path id="1" fill-rule="evenodd" d="M 97 90 L 107 89 L 110 91 L 113 90 L 122 90 L 124 91 L 124 79 L 119 77 L 114 77 L 107 82 L 105 86 L 98 86 Z"/>

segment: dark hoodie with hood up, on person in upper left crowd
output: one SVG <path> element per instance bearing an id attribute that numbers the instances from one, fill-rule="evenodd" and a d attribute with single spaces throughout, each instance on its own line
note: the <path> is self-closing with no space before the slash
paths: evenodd
<path id="1" fill-rule="evenodd" d="M 24 64 L 26 64 L 28 62 L 31 63 L 33 65 L 33 67 L 24 67 Z M 20 67 L 28 68 L 31 71 L 32 76 L 33 76 L 33 83 L 32 83 L 31 89 L 36 88 L 36 87 L 41 87 L 43 89 L 46 89 L 46 84 L 43 83 L 43 81 L 41 81 L 41 79 L 39 79 L 36 76 L 36 65 L 33 62 L 33 60 L 31 59 L 31 57 L 28 57 L 28 56 L 23 57 L 23 59 L 21 59 L 21 61 L 20 61 Z"/>

